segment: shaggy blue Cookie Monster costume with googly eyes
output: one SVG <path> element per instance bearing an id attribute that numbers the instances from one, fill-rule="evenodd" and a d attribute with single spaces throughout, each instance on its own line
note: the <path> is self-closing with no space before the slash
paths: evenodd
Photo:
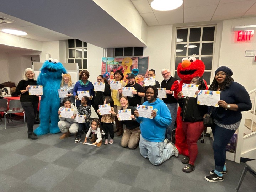
<path id="1" fill-rule="evenodd" d="M 58 127 L 58 110 L 60 107 L 58 89 L 60 88 L 62 73 L 67 73 L 62 63 L 52 58 L 45 61 L 40 70 L 41 73 L 37 78 L 37 84 L 43 85 L 43 95 L 41 96 L 39 110 L 41 123 L 34 130 L 34 133 L 38 136 L 49 132 L 53 134 L 60 132 Z"/>

